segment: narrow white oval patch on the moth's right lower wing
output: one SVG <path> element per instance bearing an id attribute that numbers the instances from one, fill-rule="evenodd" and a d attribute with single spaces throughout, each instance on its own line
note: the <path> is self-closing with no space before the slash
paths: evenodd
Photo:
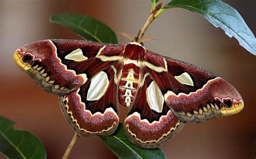
<path id="1" fill-rule="evenodd" d="M 161 93 L 156 82 L 151 82 L 146 91 L 147 103 L 150 106 L 151 110 L 154 110 L 158 113 L 162 112 L 164 106 L 164 96 Z"/>

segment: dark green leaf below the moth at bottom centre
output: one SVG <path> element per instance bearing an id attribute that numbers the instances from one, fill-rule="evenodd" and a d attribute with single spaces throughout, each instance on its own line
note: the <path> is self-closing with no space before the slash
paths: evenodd
<path id="1" fill-rule="evenodd" d="M 119 124 L 117 131 L 111 136 L 99 136 L 119 158 L 166 158 L 164 152 L 159 149 L 144 149 L 131 143 L 125 136 L 123 124 Z"/>

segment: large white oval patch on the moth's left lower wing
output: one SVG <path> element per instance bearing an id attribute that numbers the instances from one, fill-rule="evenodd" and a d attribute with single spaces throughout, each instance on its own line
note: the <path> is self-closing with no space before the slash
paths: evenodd
<path id="1" fill-rule="evenodd" d="M 87 100 L 99 100 L 105 94 L 109 87 L 109 79 L 107 74 L 101 71 L 91 80 L 90 88 L 87 93 Z"/>

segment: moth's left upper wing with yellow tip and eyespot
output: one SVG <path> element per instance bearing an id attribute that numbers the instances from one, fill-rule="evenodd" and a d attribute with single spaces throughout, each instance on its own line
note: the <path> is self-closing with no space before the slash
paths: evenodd
<path id="1" fill-rule="evenodd" d="M 118 56 L 123 49 L 123 45 L 87 40 L 42 40 L 19 48 L 14 60 L 41 88 L 61 96 L 116 62 L 96 56 Z"/>

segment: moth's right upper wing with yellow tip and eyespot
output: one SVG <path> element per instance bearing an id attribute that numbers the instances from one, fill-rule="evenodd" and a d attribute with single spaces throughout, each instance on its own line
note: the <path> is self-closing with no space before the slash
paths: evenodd
<path id="1" fill-rule="evenodd" d="M 147 67 L 164 95 L 165 102 L 183 122 L 203 122 L 240 112 L 239 92 L 223 78 L 182 61 L 146 50 Z M 155 69 L 155 67 L 162 69 Z"/>

